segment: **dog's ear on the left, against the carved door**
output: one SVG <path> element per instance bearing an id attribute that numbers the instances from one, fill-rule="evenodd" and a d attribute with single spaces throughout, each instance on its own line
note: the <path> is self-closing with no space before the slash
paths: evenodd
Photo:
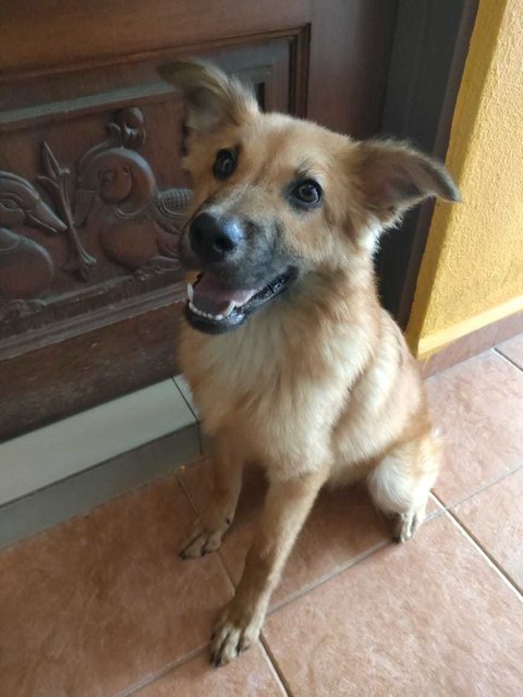
<path id="1" fill-rule="evenodd" d="M 183 93 L 185 126 L 202 135 L 223 125 L 240 125 L 259 112 L 254 94 L 210 63 L 177 61 L 158 72 Z"/>

